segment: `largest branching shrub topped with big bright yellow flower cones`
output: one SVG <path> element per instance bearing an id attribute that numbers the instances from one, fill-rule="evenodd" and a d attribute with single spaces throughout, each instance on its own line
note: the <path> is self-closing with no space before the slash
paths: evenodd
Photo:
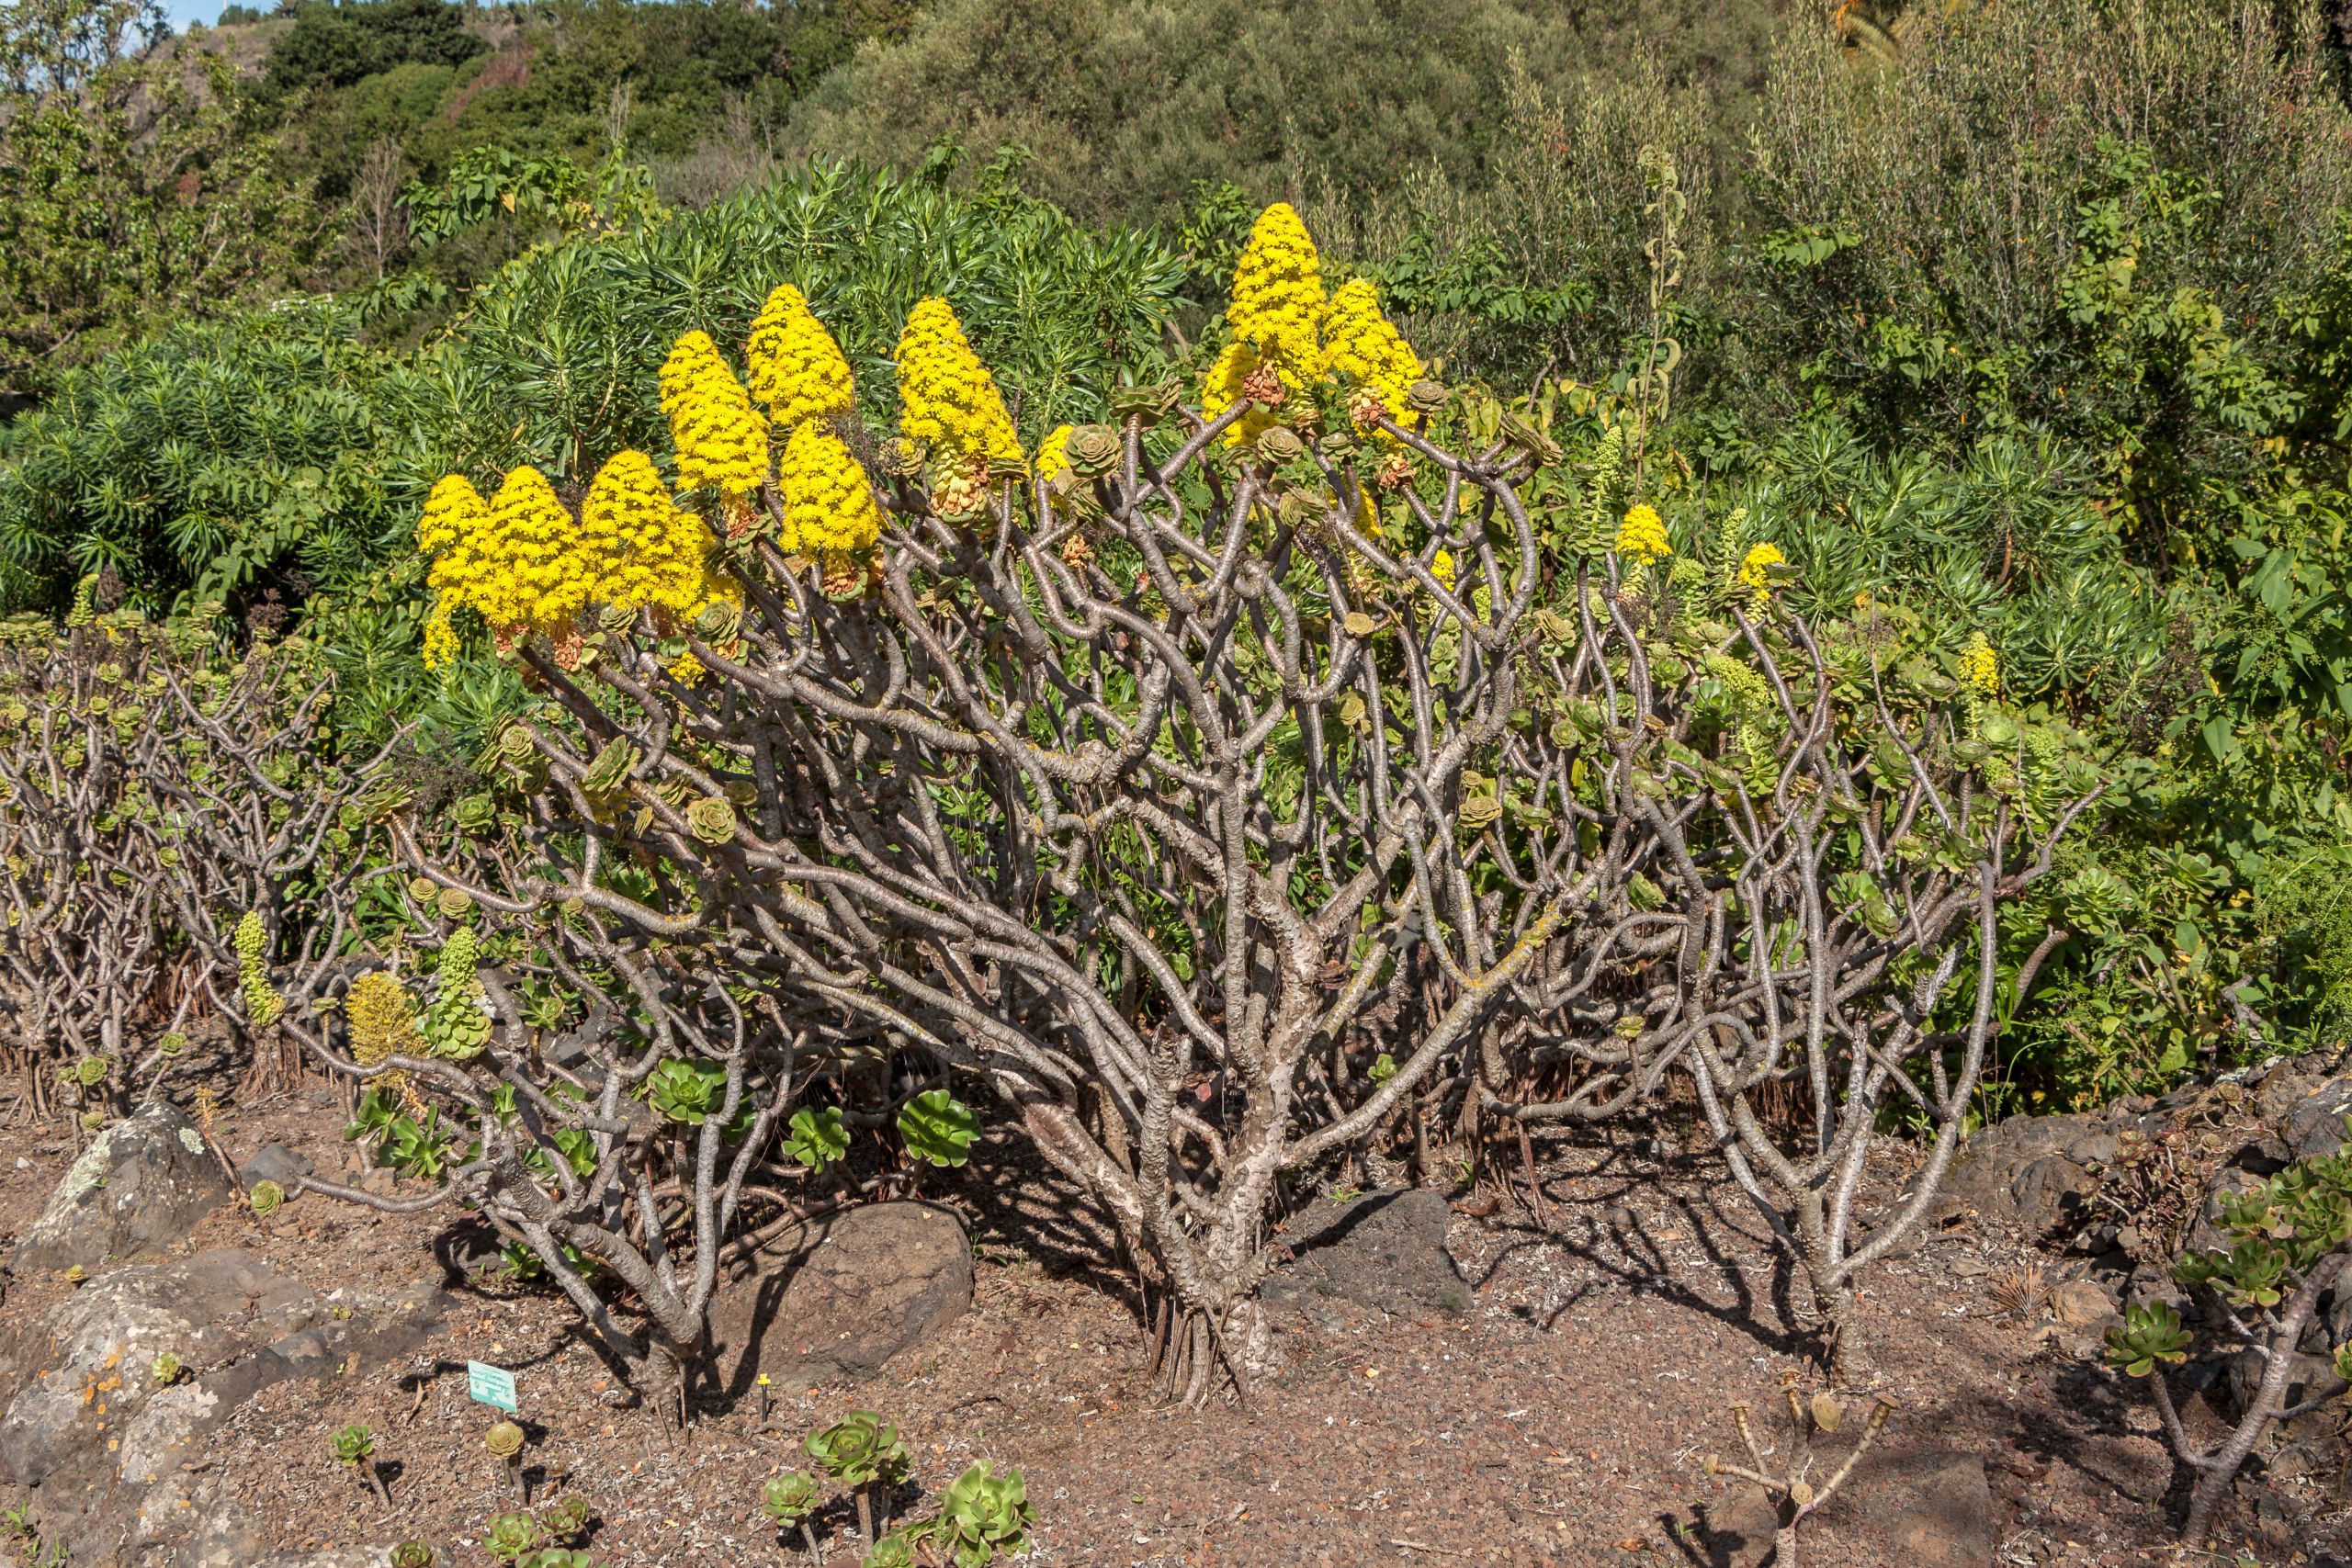
<path id="1" fill-rule="evenodd" d="M 762 320 L 767 414 L 699 334 L 663 367 L 701 512 L 644 454 L 576 515 L 529 470 L 435 491 L 435 649 L 480 618 L 532 672 L 562 715 L 532 811 L 576 835 L 475 896 L 691 943 L 706 983 L 771 987 L 781 1039 L 983 1077 L 1174 1300 L 1174 1382 L 1247 1387 L 1282 1180 L 1557 922 L 1458 820 L 1538 585 L 1526 454 L 1416 433 L 1442 390 L 1287 209 L 1207 407 L 1131 388 L 1035 454 L 946 301 L 873 465 L 823 327 L 788 289 Z M 1322 1058 L 1406 940 L 1446 999 L 1350 1107 Z"/>

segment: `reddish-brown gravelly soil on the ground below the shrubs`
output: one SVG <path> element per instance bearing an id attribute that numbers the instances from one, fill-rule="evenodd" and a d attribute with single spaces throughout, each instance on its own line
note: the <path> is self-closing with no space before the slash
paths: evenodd
<path id="1" fill-rule="evenodd" d="M 285 1140 L 322 1173 L 343 1168 L 339 1131 L 327 1091 L 226 1110 L 216 1126 L 233 1159 Z M 797 1439 L 847 1408 L 894 1418 L 915 1450 L 901 1507 L 974 1458 L 1018 1465 L 1047 1566 L 1708 1563 L 1693 1505 L 1726 1493 L 1703 1460 L 1738 1448 L 1731 1401 L 1769 1408 L 1783 1368 L 1802 1366 L 1790 1307 L 1804 1293 L 1703 1159 L 1628 1147 L 1552 1159 L 1550 1229 L 1508 1204 L 1484 1220 L 1456 1213 L 1468 1314 L 1284 1309 L 1279 1382 L 1249 1410 L 1200 1413 L 1152 1401 L 1134 1305 L 1089 1255 L 1091 1227 L 1056 1211 L 1009 1150 L 983 1150 L 927 1182 L 967 1213 L 983 1260 L 976 1305 L 946 1340 L 880 1382 L 779 1399 L 767 1427 L 755 1399 L 713 1399 L 675 1443 L 642 1410 L 614 1408 L 612 1371 L 574 1338 L 560 1298 L 445 1269 L 461 1215 L 383 1218 L 318 1194 L 268 1225 L 219 1213 L 193 1246 L 256 1248 L 320 1291 L 447 1281 L 459 1312 L 433 1356 L 327 1394 L 310 1382 L 261 1394 L 214 1462 L 259 1516 L 282 1521 L 285 1549 L 414 1535 L 459 1542 L 468 1568 L 489 1563 L 482 1530 L 508 1505 L 482 1450 L 492 1413 L 466 1399 L 463 1363 L 480 1359 L 520 1375 L 536 1497 L 586 1495 L 593 1556 L 612 1568 L 800 1561 L 760 1516 L 760 1481 L 795 1467 Z M 0 1133 L 0 1239 L 71 1154 L 64 1131 Z M 1987 1281 L 2020 1260 L 1959 1229 L 1870 1279 L 1867 1356 L 1877 1389 L 1900 1401 L 1882 1448 L 1980 1455 L 2004 1563 L 2173 1561 L 2154 1418 L 2063 1338 L 1994 1312 Z M 2044 1262 L 2056 1279 L 2060 1260 Z M 45 1312 L 66 1288 L 16 1281 L 5 1309 Z M 343 1422 L 374 1427 L 397 1519 L 329 1460 Z M 2328 1481 L 2241 1486 L 2232 1530 L 2253 1542 L 2251 1561 L 2326 1561 L 2298 1547 L 2343 1533 Z M 828 1533 L 849 1523 L 847 1507 L 821 1516 Z M 1816 1516 L 1806 1540 L 1809 1568 L 1889 1561 L 1865 1493 Z M 830 1552 L 856 1561 L 847 1537 Z"/>

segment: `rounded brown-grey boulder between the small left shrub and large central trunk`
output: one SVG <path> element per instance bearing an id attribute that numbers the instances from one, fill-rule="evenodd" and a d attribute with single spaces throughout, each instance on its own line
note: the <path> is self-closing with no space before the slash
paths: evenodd
<path id="1" fill-rule="evenodd" d="M 736 1394 L 866 1382 L 971 1307 L 971 1241 L 931 1204 L 866 1204 L 795 1227 L 710 1302 L 710 1347 Z"/>

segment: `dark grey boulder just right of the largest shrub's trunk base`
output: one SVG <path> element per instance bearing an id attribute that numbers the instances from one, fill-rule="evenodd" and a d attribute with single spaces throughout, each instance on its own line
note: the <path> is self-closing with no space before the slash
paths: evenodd
<path id="1" fill-rule="evenodd" d="M 1284 1225 L 1291 1262 L 1275 1269 L 1263 1295 L 1338 1295 L 1399 1316 L 1468 1312 L 1470 1284 L 1446 1251 L 1451 1222 L 1446 1199 L 1418 1187 L 1317 1201 Z"/>

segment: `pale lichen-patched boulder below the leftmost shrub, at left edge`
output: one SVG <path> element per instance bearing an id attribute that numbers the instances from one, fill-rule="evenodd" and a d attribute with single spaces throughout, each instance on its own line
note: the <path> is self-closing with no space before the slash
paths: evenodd
<path id="1" fill-rule="evenodd" d="M 228 1201 L 228 1178 L 176 1107 L 153 1103 L 82 1150 L 16 1244 L 19 1272 L 179 1253 L 188 1232 Z"/>

